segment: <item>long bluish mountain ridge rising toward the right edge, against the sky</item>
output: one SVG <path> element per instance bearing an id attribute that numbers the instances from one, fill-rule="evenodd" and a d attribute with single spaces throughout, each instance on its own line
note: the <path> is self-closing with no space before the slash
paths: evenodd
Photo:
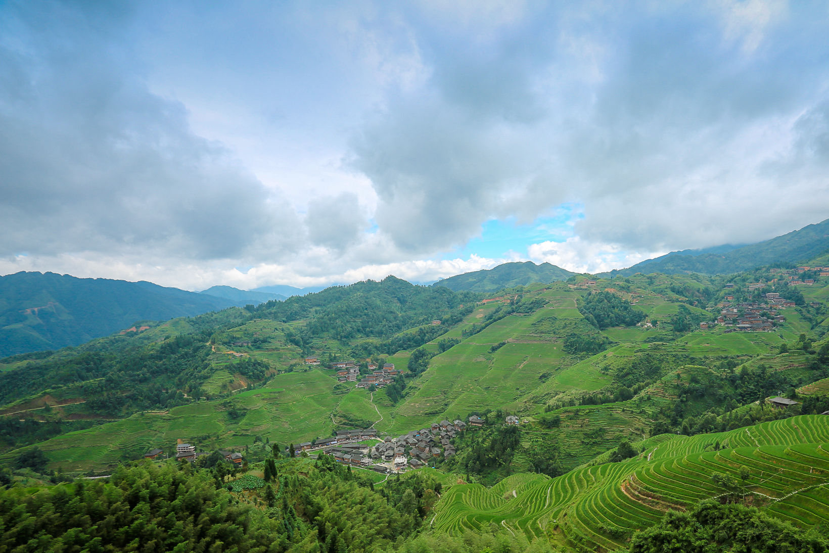
<path id="1" fill-rule="evenodd" d="M 768 264 L 792 264 L 810 260 L 829 250 L 829 219 L 804 226 L 786 235 L 751 245 L 720 245 L 705 250 L 672 251 L 652 260 L 612 270 L 599 276 L 636 273 L 730 274 Z"/>

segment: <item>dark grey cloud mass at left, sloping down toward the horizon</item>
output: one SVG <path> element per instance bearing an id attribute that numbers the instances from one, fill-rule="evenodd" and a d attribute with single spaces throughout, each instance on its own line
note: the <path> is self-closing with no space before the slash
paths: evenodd
<path id="1" fill-rule="evenodd" d="M 125 71 L 128 51 L 112 47 L 95 14 L 38 7 L 6 14 L 26 31 L 0 46 L 0 74 L 16 83 L 0 90 L 0 254 L 198 260 L 292 247 L 293 210 L 221 144 L 193 134 L 181 104 Z M 53 35 L 64 17 L 76 27 Z"/>

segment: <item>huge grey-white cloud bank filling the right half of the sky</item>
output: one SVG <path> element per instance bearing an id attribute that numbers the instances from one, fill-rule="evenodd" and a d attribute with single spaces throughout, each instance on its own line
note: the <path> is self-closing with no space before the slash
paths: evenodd
<path id="1" fill-rule="evenodd" d="M 353 143 L 401 249 L 463 244 L 490 218 L 526 223 L 565 201 L 584 204 L 584 240 L 640 251 L 825 218 L 825 181 L 767 170 L 827 99 L 825 9 L 542 5 L 495 20 L 474 36 L 417 27 L 429 80 Z"/>

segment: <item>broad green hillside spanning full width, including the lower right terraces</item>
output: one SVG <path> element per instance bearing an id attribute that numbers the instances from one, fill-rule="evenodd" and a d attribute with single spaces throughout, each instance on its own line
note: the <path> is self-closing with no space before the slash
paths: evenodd
<path id="1" fill-rule="evenodd" d="M 829 417 L 815 415 L 829 410 L 829 277 L 779 276 L 576 277 L 497 295 L 389 277 L 14 357 L 0 363 L 0 465 L 36 451 L 50 470 L 109 473 L 183 439 L 242 452 L 260 477 L 273 444 L 481 415 L 457 454 L 410 474 L 417 498 L 420 474 L 444 483 L 418 539 L 496 528 L 536 551 L 615 551 L 668 507 L 724 494 L 806 529 L 829 521 Z M 792 299 L 766 305 L 774 290 Z M 754 303 L 767 331 L 716 322 Z M 356 387 L 370 362 L 402 374 Z M 797 404 L 772 407 L 778 395 Z"/>

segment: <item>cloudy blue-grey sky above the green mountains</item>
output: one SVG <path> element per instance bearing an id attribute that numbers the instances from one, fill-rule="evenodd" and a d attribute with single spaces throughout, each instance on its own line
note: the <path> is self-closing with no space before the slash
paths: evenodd
<path id="1" fill-rule="evenodd" d="M 0 2 L 0 274 L 579 272 L 829 218 L 829 4 Z"/>

